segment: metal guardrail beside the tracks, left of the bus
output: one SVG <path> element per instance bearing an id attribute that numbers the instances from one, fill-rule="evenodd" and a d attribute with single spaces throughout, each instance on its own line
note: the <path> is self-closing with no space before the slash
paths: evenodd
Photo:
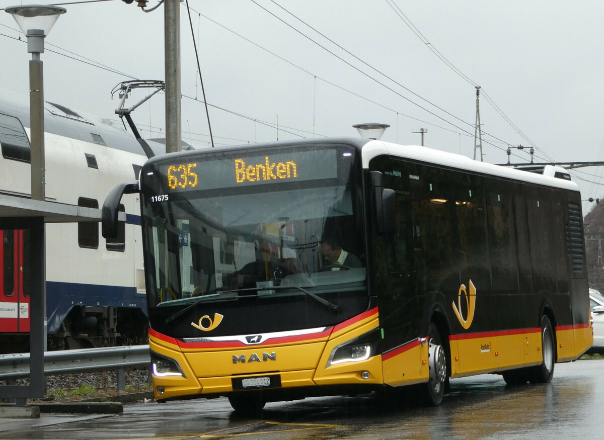
<path id="1" fill-rule="evenodd" d="M 150 363 L 149 345 L 47 351 L 44 353 L 44 375 L 114 370 L 117 374 L 117 388 L 124 391 L 124 369 L 146 367 Z M 0 355 L 0 380 L 14 381 L 29 375 L 29 353 Z"/>

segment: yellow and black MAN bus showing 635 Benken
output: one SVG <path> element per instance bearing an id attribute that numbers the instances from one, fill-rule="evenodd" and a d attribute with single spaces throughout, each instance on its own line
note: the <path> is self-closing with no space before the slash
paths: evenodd
<path id="1" fill-rule="evenodd" d="M 159 402 L 267 401 L 451 377 L 547 382 L 590 348 L 580 194 L 565 170 L 321 139 L 158 156 L 139 193 Z"/>

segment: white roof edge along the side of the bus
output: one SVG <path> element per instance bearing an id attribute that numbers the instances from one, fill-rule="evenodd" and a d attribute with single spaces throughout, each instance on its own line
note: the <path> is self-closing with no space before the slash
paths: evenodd
<path id="1" fill-rule="evenodd" d="M 576 183 L 557 177 L 542 176 L 528 171 L 514 170 L 500 165 L 487 164 L 486 162 L 473 161 L 466 156 L 448 153 L 447 151 L 434 150 L 419 145 L 398 145 L 390 142 L 369 141 L 363 145 L 363 168 L 369 168 L 369 161 L 376 156 L 391 155 L 400 158 L 414 159 L 429 162 L 445 167 L 459 168 L 461 170 L 475 171 L 476 173 L 490 174 L 492 176 L 507 177 L 508 179 L 522 180 L 524 182 L 548 185 L 550 187 L 564 188 L 565 190 L 579 191 Z M 565 170 L 562 170 L 565 171 Z"/>

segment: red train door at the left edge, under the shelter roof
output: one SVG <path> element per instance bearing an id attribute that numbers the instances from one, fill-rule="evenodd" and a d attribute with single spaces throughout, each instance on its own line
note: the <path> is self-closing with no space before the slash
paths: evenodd
<path id="1" fill-rule="evenodd" d="M 24 280 L 27 235 L 21 229 L 0 230 L 0 333 L 30 331 L 30 295 Z"/>

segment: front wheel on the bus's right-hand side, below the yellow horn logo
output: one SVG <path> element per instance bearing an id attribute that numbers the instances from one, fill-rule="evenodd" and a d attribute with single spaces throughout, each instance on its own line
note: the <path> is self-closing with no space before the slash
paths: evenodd
<path id="1" fill-rule="evenodd" d="M 428 327 L 428 366 L 430 378 L 428 383 L 420 385 L 422 401 L 428 406 L 437 406 L 443 401 L 447 380 L 447 360 L 445 349 L 440 339 L 439 328 L 434 323 Z"/>

